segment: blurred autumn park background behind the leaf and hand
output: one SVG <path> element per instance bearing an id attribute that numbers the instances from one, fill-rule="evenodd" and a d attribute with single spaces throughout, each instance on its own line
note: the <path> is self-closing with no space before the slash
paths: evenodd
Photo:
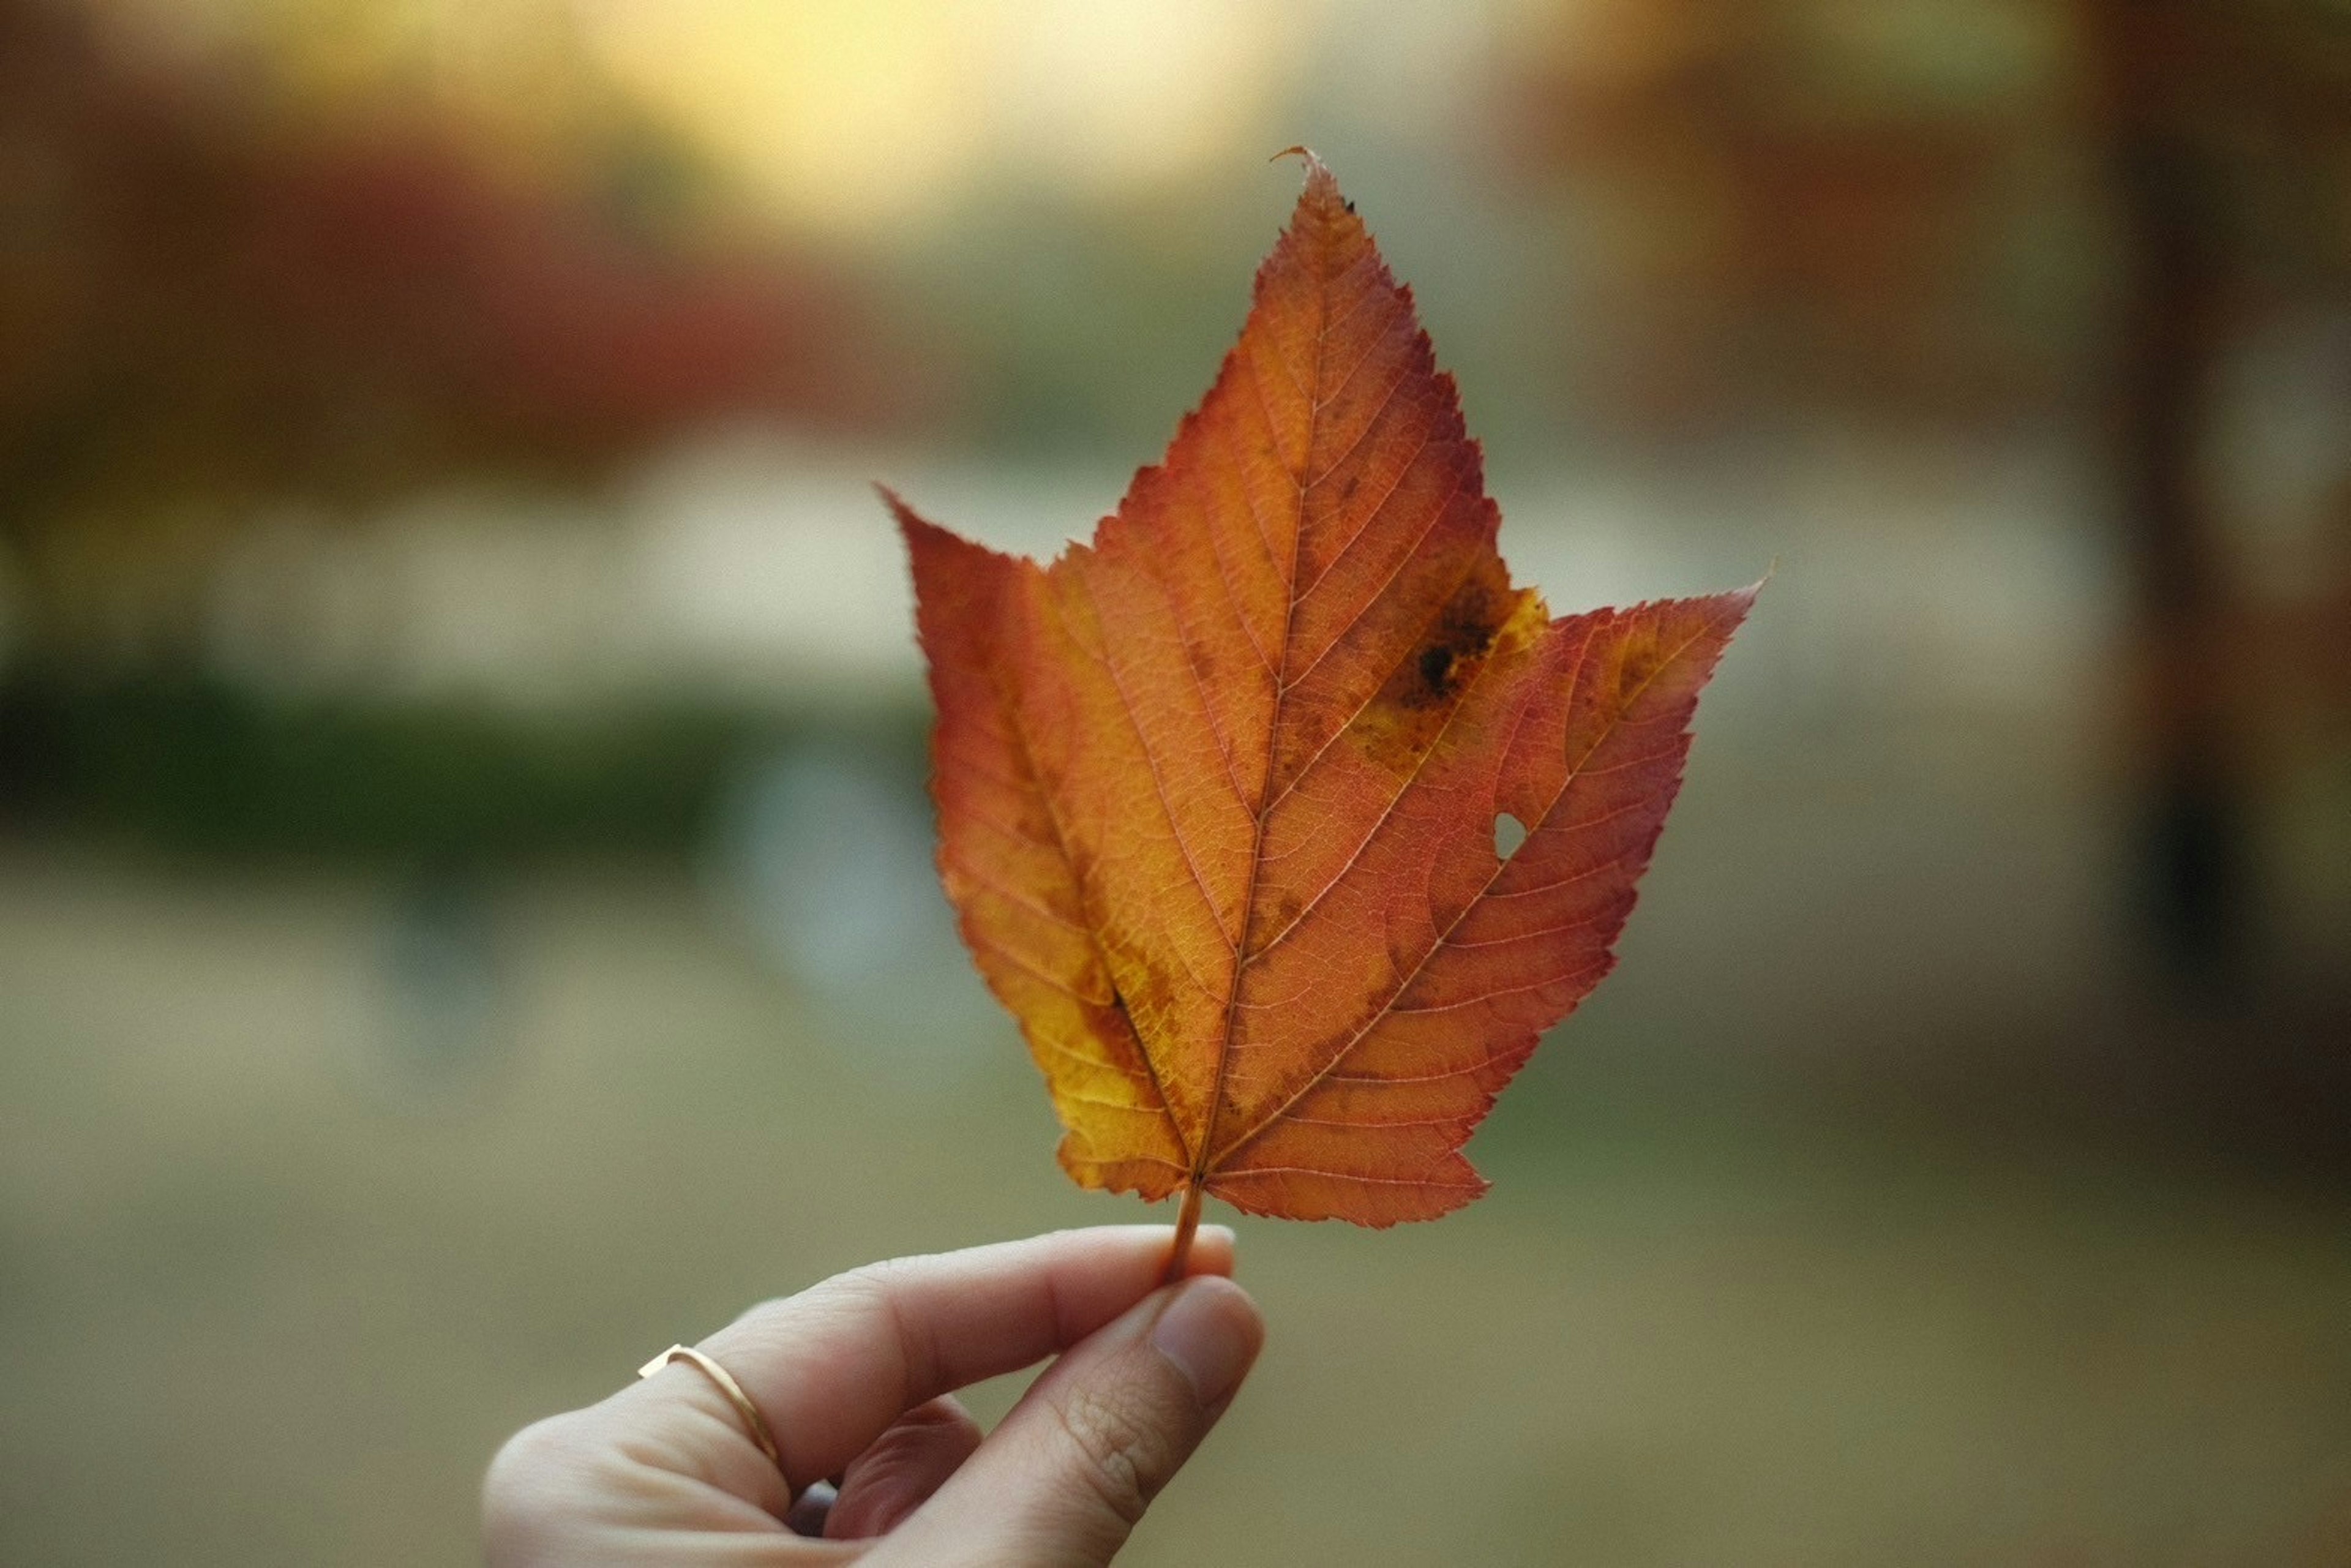
<path id="1" fill-rule="evenodd" d="M 0 1559 L 470 1561 L 651 1349 L 1145 1213 L 868 484 L 1089 531 L 1295 141 L 1521 581 L 1777 576 L 1131 1561 L 2351 1563 L 2344 0 L 0 0 Z"/>

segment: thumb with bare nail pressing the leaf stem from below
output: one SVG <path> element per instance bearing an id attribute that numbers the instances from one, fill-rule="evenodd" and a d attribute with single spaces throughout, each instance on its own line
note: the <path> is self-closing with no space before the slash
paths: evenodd
<path id="1" fill-rule="evenodd" d="M 1154 1291 L 1056 1361 L 875 1561 L 1107 1563 L 1262 1342 L 1255 1302 L 1230 1279 Z"/>

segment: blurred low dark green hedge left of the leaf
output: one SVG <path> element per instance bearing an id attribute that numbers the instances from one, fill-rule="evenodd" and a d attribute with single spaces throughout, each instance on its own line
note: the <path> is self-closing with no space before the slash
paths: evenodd
<path id="1" fill-rule="evenodd" d="M 896 724 L 919 745 L 910 717 Z M 26 672 L 0 686 L 0 806 L 233 856 L 677 856 L 734 769 L 790 729 L 719 705 L 517 719 L 458 703 L 289 701 L 202 675 Z"/>

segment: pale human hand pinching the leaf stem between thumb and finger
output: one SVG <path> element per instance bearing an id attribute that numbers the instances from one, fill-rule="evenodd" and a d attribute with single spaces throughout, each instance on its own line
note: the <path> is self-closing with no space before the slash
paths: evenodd
<path id="1" fill-rule="evenodd" d="M 1154 1288 L 1168 1246 L 1159 1225 L 1067 1229 L 752 1307 L 701 1349 L 766 1420 L 781 1474 L 719 1385 L 670 1363 L 498 1450 L 489 1566 L 1107 1563 L 1265 1338 L 1230 1229 L 1204 1225 L 1194 1276 Z M 952 1389 L 1056 1352 L 983 1439 Z M 825 1479 L 830 1509 L 804 1495 Z"/>

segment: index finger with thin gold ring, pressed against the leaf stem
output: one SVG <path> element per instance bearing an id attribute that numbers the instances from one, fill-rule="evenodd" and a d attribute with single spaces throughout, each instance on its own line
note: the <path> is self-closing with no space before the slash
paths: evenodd
<path id="1" fill-rule="evenodd" d="M 980 1378 L 1020 1371 L 1077 1345 L 1143 1300 L 1173 1244 L 1164 1225 L 1065 1229 L 962 1253 L 898 1258 L 837 1274 L 755 1307 L 701 1342 L 766 1418 L 792 1490 L 839 1474 L 900 1415 Z M 1232 1272 L 1232 1232 L 1204 1225 L 1192 1267 Z M 668 1401 L 656 1408 L 654 1401 Z M 781 1509 L 773 1467 L 724 1394 L 691 1368 L 668 1368 L 604 1401 L 614 1420 L 661 1420 L 734 1434 L 703 1474 Z"/>

